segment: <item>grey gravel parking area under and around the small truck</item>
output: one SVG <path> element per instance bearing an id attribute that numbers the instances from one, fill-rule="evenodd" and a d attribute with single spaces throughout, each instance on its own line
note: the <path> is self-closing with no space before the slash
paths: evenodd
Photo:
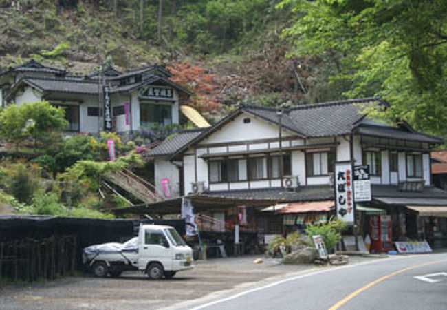
<path id="1" fill-rule="evenodd" d="M 195 269 L 179 272 L 171 280 L 149 280 L 137 272 L 120 278 L 83 275 L 31 285 L 0 287 L 1 309 L 160 309 L 210 293 L 249 285 L 270 277 L 305 271 L 314 265 L 283 265 L 262 256 L 217 258 L 195 262 Z M 350 256 L 349 263 L 375 257 Z M 336 268 L 336 267 L 331 267 Z"/>

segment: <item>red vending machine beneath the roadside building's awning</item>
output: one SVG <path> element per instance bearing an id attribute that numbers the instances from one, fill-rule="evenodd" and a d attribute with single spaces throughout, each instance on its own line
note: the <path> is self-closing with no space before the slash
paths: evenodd
<path id="1" fill-rule="evenodd" d="M 371 252 L 383 252 L 393 249 L 393 242 L 391 242 L 391 216 L 370 216 L 369 236 L 371 238 Z"/>

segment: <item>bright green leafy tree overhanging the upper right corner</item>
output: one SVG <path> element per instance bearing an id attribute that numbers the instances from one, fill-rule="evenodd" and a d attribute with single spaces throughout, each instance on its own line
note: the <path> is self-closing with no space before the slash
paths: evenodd
<path id="1" fill-rule="evenodd" d="M 447 136 L 447 2 L 285 0 L 296 21 L 285 35 L 293 54 L 325 59 L 323 82 L 344 96 L 381 95 L 419 130 Z"/>

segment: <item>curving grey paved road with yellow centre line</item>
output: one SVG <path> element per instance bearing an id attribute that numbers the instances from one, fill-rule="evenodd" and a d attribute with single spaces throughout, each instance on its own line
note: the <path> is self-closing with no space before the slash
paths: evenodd
<path id="1" fill-rule="evenodd" d="M 445 310 L 447 254 L 393 256 L 305 271 L 173 308 Z"/>

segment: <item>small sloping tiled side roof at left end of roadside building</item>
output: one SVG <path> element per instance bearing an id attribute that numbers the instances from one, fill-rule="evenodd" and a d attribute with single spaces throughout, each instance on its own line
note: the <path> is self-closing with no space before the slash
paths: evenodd
<path id="1" fill-rule="evenodd" d="M 201 132 L 204 132 L 204 130 L 206 130 L 206 128 L 196 128 L 193 130 L 177 132 L 177 134 L 166 139 L 162 144 L 150 149 L 144 156 L 153 157 L 175 154 L 180 148 L 192 141 L 193 138 L 199 136 Z"/>

